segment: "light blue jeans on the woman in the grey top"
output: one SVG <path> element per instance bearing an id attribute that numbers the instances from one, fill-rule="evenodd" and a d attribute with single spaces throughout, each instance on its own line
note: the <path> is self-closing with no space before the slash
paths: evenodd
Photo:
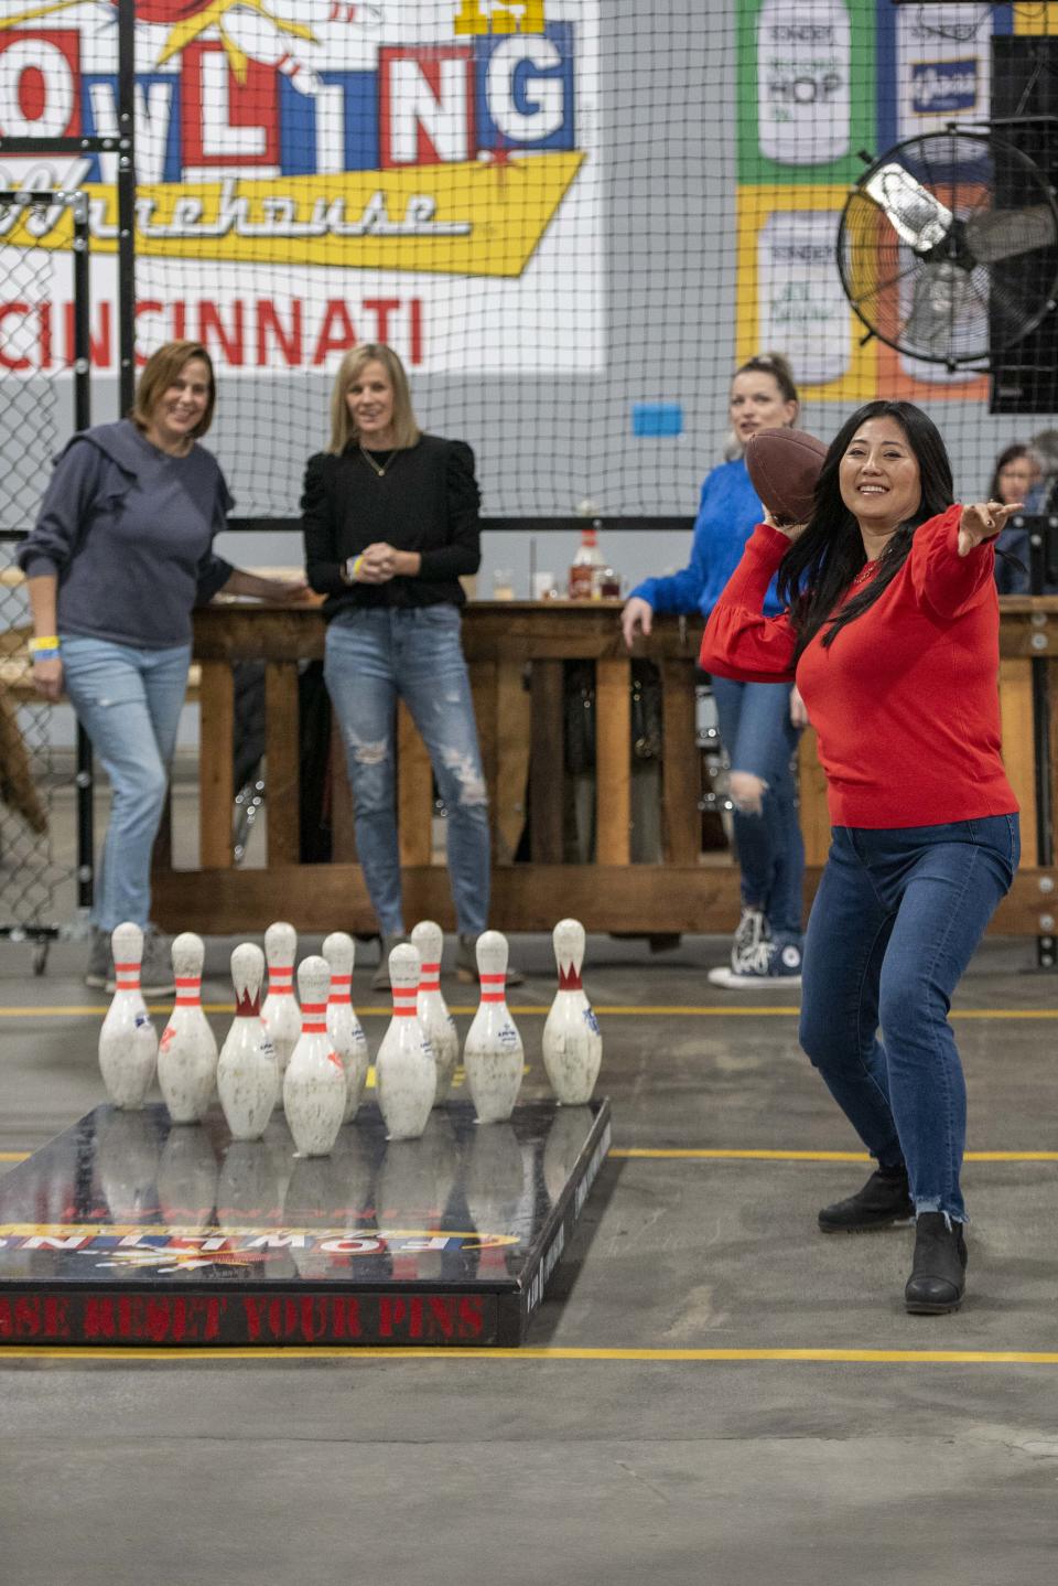
<path id="1" fill-rule="evenodd" d="M 111 779 L 111 822 L 92 906 L 92 923 L 103 931 L 150 918 L 150 850 L 190 660 L 190 644 L 139 650 L 76 634 L 62 641 L 67 693 Z"/>

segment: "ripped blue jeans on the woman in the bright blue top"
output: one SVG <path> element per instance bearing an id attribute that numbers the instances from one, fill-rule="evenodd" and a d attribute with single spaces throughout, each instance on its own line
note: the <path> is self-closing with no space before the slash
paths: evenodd
<path id="1" fill-rule="evenodd" d="M 790 766 L 798 730 L 790 722 L 789 684 L 714 677 L 713 698 L 732 771 L 768 783 L 760 815 L 738 809 L 733 815 L 743 904 L 763 910 L 773 940 L 800 947 L 805 841 Z"/>

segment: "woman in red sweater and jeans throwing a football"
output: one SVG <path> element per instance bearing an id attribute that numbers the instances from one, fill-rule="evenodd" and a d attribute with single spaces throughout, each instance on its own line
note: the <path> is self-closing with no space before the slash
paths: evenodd
<path id="1" fill-rule="evenodd" d="M 797 680 L 819 734 L 833 841 L 800 1039 L 877 1161 L 819 1226 L 914 1216 L 904 1304 L 923 1313 L 957 1310 L 966 1270 L 966 1086 L 947 1012 L 1020 855 L 991 546 L 1018 504 L 952 493 L 936 425 L 911 403 L 868 403 L 827 454 L 811 520 L 754 531 L 702 641 L 706 671 Z M 763 617 L 776 568 L 787 609 Z"/>

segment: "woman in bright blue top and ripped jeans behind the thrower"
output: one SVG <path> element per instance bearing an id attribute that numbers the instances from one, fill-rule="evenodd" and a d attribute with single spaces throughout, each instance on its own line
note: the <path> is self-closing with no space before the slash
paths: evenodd
<path id="1" fill-rule="evenodd" d="M 762 354 L 735 371 L 730 417 L 736 455 L 714 468 L 702 485 L 691 566 L 670 577 L 646 579 L 621 614 L 624 641 L 651 631 L 654 612 L 700 612 L 708 619 L 738 566 L 763 509 L 749 482 L 743 450 L 759 430 L 797 420 L 800 400 L 786 358 Z M 781 611 L 774 582 L 765 612 Z M 721 739 L 730 760 L 729 790 L 741 868 L 741 918 L 730 967 L 710 971 L 713 985 L 800 985 L 801 880 L 805 844 L 797 818 L 792 757 L 798 722 L 790 715 L 786 684 L 738 684 L 713 679 Z"/>

